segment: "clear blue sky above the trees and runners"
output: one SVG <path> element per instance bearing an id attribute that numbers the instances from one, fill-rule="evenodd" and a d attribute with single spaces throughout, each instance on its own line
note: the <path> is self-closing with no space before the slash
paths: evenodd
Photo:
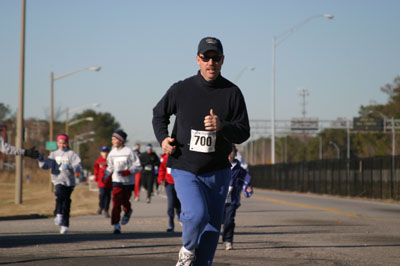
<path id="1" fill-rule="evenodd" d="M 25 118 L 101 103 L 130 143 L 154 140 L 152 108 L 170 85 L 197 72 L 197 45 L 218 37 L 222 74 L 237 80 L 250 119 L 271 118 L 272 37 L 304 19 L 276 50 L 276 119 L 351 119 L 361 105 L 386 103 L 380 88 L 400 75 L 398 0 L 27 0 Z M 0 1 L 0 102 L 18 105 L 21 1 Z M 60 116 L 64 120 L 65 116 Z"/>

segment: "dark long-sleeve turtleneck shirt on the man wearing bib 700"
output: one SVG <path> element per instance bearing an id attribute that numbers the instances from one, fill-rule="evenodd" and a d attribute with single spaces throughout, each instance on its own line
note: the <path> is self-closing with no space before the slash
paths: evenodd
<path id="1" fill-rule="evenodd" d="M 215 152 L 189 149 L 191 129 L 205 131 L 204 118 L 214 110 L 221 122 Z M 246 103 L 240 89 L 221 75 L 207 82 L 200 74 L 173 84 L 153 108 L 153 129 L 161 143 L 169 136 L 170 117 L 176 116 L 171 134 L 176 151 L 169 156 L 167 167 L 204 174 L 230 167 L 228 154 L 232 143 L 240 144 L 250 136 Z"/>

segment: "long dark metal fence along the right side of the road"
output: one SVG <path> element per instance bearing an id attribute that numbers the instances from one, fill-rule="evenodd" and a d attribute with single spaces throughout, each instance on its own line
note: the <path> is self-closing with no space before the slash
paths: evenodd
<path id="1" fill-rule="evenodd" d="M 259 188 L 400 200 L 400 156 L 249 167 Z"/>

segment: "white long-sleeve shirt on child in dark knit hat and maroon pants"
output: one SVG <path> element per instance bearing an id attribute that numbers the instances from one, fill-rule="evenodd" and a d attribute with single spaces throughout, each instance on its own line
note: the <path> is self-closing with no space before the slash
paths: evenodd
<path id="1" fill-rule="evenodd" d="M 131 173 L 122 176 L 119 172 L 129 170 Z M 122 185 L 135 184 L 135 174 L 141 170 L 140 160 L 136 153 L 129 147 L 113 148 L 107 156 L 107 169 L 105 176 L 112 175 L 112 182 Z"/>

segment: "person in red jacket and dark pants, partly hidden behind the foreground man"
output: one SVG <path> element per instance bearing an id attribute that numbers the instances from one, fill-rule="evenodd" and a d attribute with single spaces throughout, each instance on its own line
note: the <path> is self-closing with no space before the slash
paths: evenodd
<path id="1" fill-rule="evenodd" d="M 167 214 L 169 217 L 169 226 L 167 228 L 167 232 L 173 232 L 174 231 L 174 214 L 176 212 L 176 215 L 178 216 L 178 219 L 181 214 L 181 203 L 176 196 L 176 191 L 175 191 L 175 183 L 174 179 L 171 176 L 171 168 L 167 168 L 166 164 L 168 161 L 168 154 L 164 153 L 161 157 L 161 164 L 158 169 L 158 179 L 157 182 L 158 184 L 164 184 L 165 185 L 165 193 L 167 194 L 167 199 L 168 199 L 168 210 Z"/>

